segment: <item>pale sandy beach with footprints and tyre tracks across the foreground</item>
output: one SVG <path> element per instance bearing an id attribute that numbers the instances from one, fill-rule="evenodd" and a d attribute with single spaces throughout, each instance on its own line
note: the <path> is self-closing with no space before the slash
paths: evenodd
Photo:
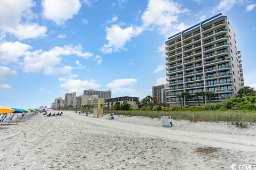
<path id="1" fill-rule="evenodd" d="M 256 126 L 63 112 L 0 126 L 0 169 L 231 169 L 256 164 Z M 203 152 L 213 147 L 212 152 Z"/>

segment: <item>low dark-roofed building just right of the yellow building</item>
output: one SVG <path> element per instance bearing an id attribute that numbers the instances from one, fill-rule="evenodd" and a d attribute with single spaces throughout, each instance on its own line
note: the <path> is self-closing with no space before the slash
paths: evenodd
<path id="1" fill-rule="evenodd" d="M 121 105 L 125 103 L 129 103 L 131 105 L 131 108 L 135 109 L 135 108 L 138 108 L 139 97 L 123 96 L 123 97 L 105 99 L 105 108 L 109 108 L 109 109 L 113 108 L 117 101 Z"/>

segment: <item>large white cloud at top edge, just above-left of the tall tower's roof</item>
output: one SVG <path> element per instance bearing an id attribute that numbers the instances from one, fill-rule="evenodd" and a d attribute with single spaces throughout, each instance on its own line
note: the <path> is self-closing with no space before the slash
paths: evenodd
<path id="1" fill-rule="evenodd" d="M 170 35 L 184 28 L 184 23 L 178 22 L 179 14 L 187 13 L 187 8 L 181 8 L 179 3 L 170 0 L 149 0 L 146 11 L 142 15 L 144 28 L 156 29 L 160 34 Z M 180 28 L 176 28 L 177 25 Z M 187 27 L 187 26 L 186 26 Z"/>

